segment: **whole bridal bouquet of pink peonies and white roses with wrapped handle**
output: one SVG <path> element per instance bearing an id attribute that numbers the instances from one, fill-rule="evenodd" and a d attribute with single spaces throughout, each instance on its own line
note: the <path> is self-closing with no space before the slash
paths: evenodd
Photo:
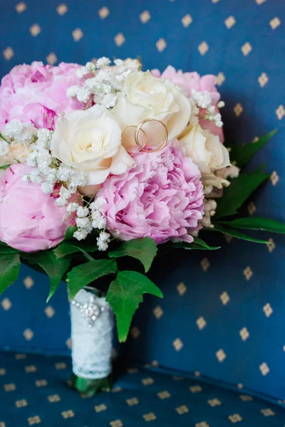
<path id="1" fill-rule="evenodd" d="M 48 299 L 66 281 L 73 386 L 90 393 L 108 388 L 112 312 L 124 342 L 143 293 L 162 297 L 147 277 L 157 251 L 217 249 L 202 228 L 285 232 L 238 215 L 268 178 L 241 169 L 274 132 L 224 145 L 213 75 L 140 68 L 34 62 L 0 87 L 0 291 L 21 262 L 49 275 Z"/>

